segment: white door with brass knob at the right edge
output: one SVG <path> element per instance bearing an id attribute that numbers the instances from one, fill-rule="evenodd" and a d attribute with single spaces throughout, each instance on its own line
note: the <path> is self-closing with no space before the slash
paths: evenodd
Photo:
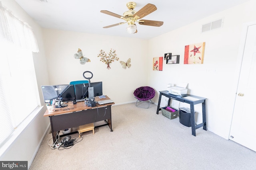
<path id="1" fill-rule="evenodd" d="M 248 26 L 229 138 L 256 151 L 256 24 Z"/>

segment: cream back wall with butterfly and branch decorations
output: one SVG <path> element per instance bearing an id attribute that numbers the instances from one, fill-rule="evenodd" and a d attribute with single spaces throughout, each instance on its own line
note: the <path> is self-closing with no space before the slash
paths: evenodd
<path id="1" fill-rule="evenodd" d="M 44 29 L 44 44 L 52 85 L 86 80 L 83 72 L 88 70 L 93 73 L 91 82 L 102 81 L 103 94 L 108 95 L 115 104 L 133 102 L 134 90 L 147 85 L 146 40 Z M 79 59 L 74 58 L 78 48 L 91 62 L 80 64 Z M 110 70 L 97 57 L 101 49 L 107 54 L 110 49 L 116 50 L 119 61 L 112 62 Z M 126 62 L 129 58 L 132 66 L 123 69 L 120 61 Z"/>

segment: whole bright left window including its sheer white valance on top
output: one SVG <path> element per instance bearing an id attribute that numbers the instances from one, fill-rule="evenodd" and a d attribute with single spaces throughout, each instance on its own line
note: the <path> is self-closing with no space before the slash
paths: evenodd
<path id="1" fill-rule="evenodd" d="M 32 28 L 0 2 L 0 145 L 38 107 L 32 51 L 39 52 Z"/>

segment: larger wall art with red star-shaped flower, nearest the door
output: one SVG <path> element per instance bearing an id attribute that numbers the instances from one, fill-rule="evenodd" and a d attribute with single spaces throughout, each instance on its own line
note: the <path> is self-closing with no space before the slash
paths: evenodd
<path id="1" fill-rule="evenodd" d="M 205 42 L 185 46 L 184 64 L 204 63 Z"/>

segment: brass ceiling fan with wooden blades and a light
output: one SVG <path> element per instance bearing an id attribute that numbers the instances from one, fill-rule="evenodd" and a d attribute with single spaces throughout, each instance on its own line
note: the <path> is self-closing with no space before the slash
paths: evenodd
<path id="1" fill-rule="evenodd" d="M 160 27 L 164 24 L 163 21 L 152 21 L 152 20 L 139 20 L 138 21 L 138 19 L 142 19 L 143 17 L 147 16 L 148 14 L 151 14 L 152 12 L 154 12 L 157 9 L 156 6 L 153 4 L 146 4 L 146 6 L 141 8 L 138 12 L 134 11 L 134 8 L 136 7 L 135 2 L 128 2 L 126 4 L 126 6 L 129 9 L 129 11 L 124 12 L 123 16 L 120 16 L 118 14 L 115 14 L 113 12 L 109 12 L 106 10 L 101 10 L 100 12 L 102 12 L 104 14 L 108 14 L 110 16 L 114 16 L 116 18 L 125 20 L 125 22 L 108 25 L 103 28 L 110 28 L 110 27 L 114 27 L 114 26 L 121 25 L 124 23 L 128 23 L 128 27 L 126 28 L 126 30 L 128 33 L 132 34 L 132 33 L 137 33 L 137 26 L 136 26 L 135 22 L 138 22 L 140 25 L 149 25 L 149 26 L 155 26 L 155 27 Z"/>

